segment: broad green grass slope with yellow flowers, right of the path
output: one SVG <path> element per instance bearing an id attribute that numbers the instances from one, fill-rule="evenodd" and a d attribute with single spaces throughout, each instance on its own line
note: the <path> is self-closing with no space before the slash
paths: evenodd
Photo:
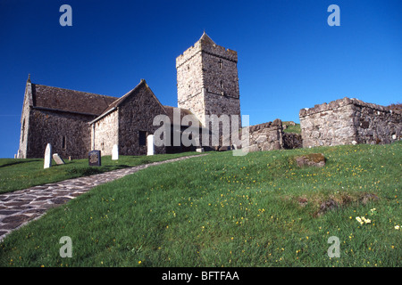
<path id="1" fill-rule="evenodd" d="M 325 167 L 297 167 L 297 155 L 314 152 Z M 401 161 L 398 142 L 147 168 L 12 232 L 0 266 L 400 266 Z M 338 207 L 320 213 L 330 200 Z M 71 258 L 59 256 L 63 236 Z M 339 258 L 327 255 L 331 236 Z"/>

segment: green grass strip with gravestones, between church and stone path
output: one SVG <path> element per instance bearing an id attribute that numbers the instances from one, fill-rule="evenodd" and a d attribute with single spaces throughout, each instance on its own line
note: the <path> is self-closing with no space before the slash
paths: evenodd
<path id="1" fill-rule="evenodd" d="M 159 154 L 155 156 L 120 156 L 112 160 L 111 156 L 102 157 L 102 167 L 89 167 L 88 159 L 66 160 L 65 165 L 56 165 L 44 169 L 43 159 L 0 159 L 0 194 L 26 189 L 44 183 L 54 183 L 80 176 L 96 175 L 138 165 L 182 156 L 196 155 L 198 152 L 177 154 Z"/>

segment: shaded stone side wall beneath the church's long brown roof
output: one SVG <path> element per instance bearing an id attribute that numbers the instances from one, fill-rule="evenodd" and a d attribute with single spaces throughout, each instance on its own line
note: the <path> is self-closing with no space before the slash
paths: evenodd
<path id="1" fill-rule="evenodd" d="M 85 159 L 90 148 L 92 116 L 32 108 L 29 112 L 27 158 L 43 159 L 46 144 L 63 159 Z"/>

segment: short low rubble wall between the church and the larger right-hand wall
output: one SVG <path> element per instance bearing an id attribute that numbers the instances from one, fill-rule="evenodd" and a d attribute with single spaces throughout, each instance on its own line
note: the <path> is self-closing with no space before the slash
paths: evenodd
<path id="1" fill-rule="evenodd" d="M 281 119 L 273 122 L 249 126 L 249 146 L 245 151 L 282 150 L 283 128 Z"/>

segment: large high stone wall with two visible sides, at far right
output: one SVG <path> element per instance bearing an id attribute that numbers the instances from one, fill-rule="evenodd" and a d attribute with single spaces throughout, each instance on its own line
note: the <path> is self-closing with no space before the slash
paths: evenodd
<path id="1" fill-rule="evenodd" d="M 303 147 L 389 143 L 400 139 L 401 113 L 347 97 L 299 112 Z"/>

